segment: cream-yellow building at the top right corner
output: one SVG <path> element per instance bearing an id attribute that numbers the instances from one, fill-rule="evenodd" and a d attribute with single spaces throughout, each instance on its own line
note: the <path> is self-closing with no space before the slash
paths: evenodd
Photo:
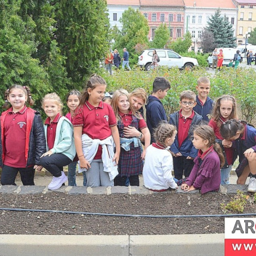
<path id="1" fill-rule="evenodd" d="M 241 45 L 245 44 L 245 34 L 256 27 L 256 0 L 236 0 L 234 3 L 238 7 L 237 44 Z"/>

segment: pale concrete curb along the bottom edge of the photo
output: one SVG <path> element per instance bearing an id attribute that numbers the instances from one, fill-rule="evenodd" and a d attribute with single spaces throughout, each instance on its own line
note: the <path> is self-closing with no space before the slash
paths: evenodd
<path id="1" fill-rule="evenodd" d="M 224 234 L 54 236 L 0 234 L 1 255 L 224 255 Z"/>

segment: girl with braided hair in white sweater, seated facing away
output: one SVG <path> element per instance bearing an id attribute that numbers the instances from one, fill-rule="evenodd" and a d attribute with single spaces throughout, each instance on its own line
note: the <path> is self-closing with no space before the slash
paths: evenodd
<path id="1" fill-rule="evenodd" d="M 155 132 L 156 143 L 146 149 L 143 167 L 143 180 L 146 188 L 158 192 L 168 188 L 178 188 L 172 175 L 173 157 L 168 150 L 176 134 L 174 125 L 164 121 L 158 125 Z"/>

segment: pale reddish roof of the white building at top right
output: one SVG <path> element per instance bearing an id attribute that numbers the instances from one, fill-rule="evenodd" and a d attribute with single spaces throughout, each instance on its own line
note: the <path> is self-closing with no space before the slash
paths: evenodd
<path id="1" fill-rule="evenodd" d="M 194 7 L 196 2 L 197 7 L 211 7 L 211 8 L 236 8 L 232 0 L 183 0 L 185 6 Z"/>

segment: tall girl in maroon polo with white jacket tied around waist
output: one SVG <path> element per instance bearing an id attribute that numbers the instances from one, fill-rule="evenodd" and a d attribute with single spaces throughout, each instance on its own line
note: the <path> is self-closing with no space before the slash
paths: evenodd
<path id="1" fill-rule="evenodd" d="M 111 105 L 102 102 L 105 90 L 105 80 L 93 74 L 73 118 L 78 173 L 86 172 L 87 186 L 91 187 L 113 186 L 118 174 L 117 122 Z"/>

